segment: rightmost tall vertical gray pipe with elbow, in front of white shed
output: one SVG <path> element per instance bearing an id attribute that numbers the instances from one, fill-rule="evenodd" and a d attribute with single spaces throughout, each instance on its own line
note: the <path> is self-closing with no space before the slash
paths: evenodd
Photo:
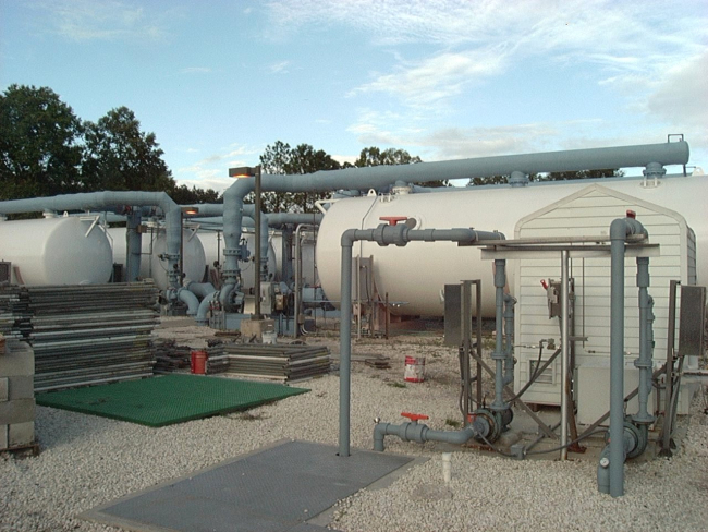
<path id="1" fill-rule="evenodd" d="M 610 225 L 610 495 L 624 495 L 624 253 L 631 234 L 648 235 L 633 211 Z"/>

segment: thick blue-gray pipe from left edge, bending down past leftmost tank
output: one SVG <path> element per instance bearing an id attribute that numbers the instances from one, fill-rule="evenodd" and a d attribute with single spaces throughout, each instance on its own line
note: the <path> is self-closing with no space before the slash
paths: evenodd
<path id="1" fill-rule="evenodd" d="M 90 210 L 108 206 L 158 206 L 164 214 L 169 291 L 179 288 L 180 273 L 180 206 L 164 192 L 89 192 L 51 197 L 0 202 L 0 215 L 41 213 L 42 210 Z"/>

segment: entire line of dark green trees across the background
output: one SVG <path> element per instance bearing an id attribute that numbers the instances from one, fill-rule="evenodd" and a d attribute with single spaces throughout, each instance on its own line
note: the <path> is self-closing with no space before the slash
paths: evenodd
<path id="1" fill-rule="evenodd" d="M 178 185 L 162 159 L 155 133 L 142 131 L 127 107 L 111 109 L 96 122 L 83 121 L 49 87 L 11 85 L 0 94 L 0 201 L 77 192 L 164 191 L 178 204 L 219 203 L 212 189 Z M 354 164 L 339 162 L 309 144 L 277 141 L 260 156 L 263 173 L 304 174 L 320 170 L 414 165 L 405 149 L 362 149 Z M 224 169 L 225 170 L 225 169 Z M 535 180 L 618 176 L 615 170 L 534 174 Z M 471 185 L 502 183 L 508 177 L 475 178 Z M 444 181 L 426 183 L 444 186 Z M 353 188 L 355 183 L 352 183 Z M 268 211 L 313 211 L 318 193 L 265 192 Z M 246 198 L 253 201 L 253 195 Z"/>

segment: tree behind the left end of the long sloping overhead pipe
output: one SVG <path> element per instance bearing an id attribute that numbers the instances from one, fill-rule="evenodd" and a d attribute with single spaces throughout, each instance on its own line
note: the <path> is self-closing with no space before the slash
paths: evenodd
<path id="1" fill-rule="evenodd" d="M 339 170 L 342 166 L 324 149 L 315 149 L 309 144 L 300 144 L 292 148 L 290 144 L 277 141 L 266 146 L 260 156 L 263 173 L 272 176 L 314 173 L 319 170 Z M 315 210 L 315 202 L 327 197 L 316 192 L 264 192 L 261 205 L 268 213 L 308 213 Z M 253 195 L 246 197 L 253 202 Z"/>

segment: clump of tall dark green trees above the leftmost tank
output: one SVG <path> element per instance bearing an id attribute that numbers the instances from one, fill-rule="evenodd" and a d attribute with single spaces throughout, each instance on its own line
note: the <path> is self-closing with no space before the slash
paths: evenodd
<path id="1" fill-rule="evenodd" d="M 0 94 L 0 200 L 101 190 L 164 191 L 178 203 L 215 203 L 211 190 L 180 185 L 155 133 L 126 107 L 84 122 L 48 87 Z"/>

